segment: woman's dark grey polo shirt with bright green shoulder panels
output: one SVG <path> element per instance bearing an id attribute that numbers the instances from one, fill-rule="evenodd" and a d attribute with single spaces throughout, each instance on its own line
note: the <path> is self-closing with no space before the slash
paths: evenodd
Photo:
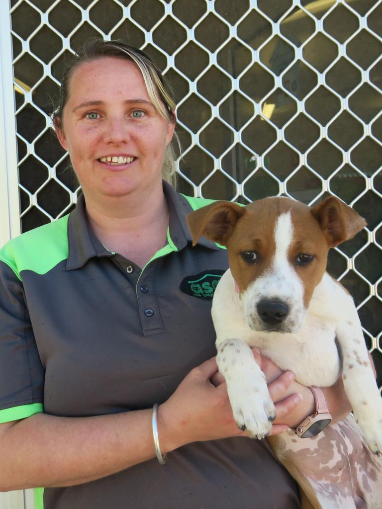
<path id="1" fill-rule="evenodd" d="M 210 307 L 226 251 L 192 247 L 185 216 L 208 200 L 164 184 L 168 242 L 139 268 L 73 212 L 0 250 L 0 422 L 37 412 L 82 417 L 150 408 L 215 355 Z M 91 483 L 36 491 L 36 508 L 299 507 L 266 441 L 188 444 Z"/>

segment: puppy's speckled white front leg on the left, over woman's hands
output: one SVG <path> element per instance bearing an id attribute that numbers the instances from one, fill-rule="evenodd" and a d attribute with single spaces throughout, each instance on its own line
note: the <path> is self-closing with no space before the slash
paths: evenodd
<path id="1" fill-rule="evenodd" d="M 251 348 L 232 338 L 216 341 L 217 365 L 227 382 L 233 416 L 240 430 L 251 438 L 264 438 L 276 417 L 265 376 Z"/>

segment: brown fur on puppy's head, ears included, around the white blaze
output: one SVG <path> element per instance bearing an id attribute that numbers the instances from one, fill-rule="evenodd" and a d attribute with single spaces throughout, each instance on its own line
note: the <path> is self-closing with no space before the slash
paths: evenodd
<path id="1" fill-rule="evenodd" d="M 277 248 L 275 229 L 282 214 L 291 217 L 293 232 L 287 259 L 301 280 L 307 308 L 326 270 L 329 248 L 356 235 L 366 224 L 350 207 L 335 197 L 313 209 L 284 197 L 265 198 L 247 207 L 216 202 L 188 214 L 187 223 L 194 245 L 205 235 L 227 247 L 231 272 L 242 293 L 271 270 Z M 245 252 L 255 252 L 256 263 L 245 260 Z M 312 262 L 299 264 L 301 254 L 312 256 Z"/>

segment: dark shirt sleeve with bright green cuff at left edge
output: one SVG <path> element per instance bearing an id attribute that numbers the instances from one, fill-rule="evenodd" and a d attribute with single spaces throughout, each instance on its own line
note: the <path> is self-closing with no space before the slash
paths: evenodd
<path id="1" fill-rule="evenodd" d="M 22 281 L 0 260 L 0 423 L 43 412 L 44 369 Z"/>

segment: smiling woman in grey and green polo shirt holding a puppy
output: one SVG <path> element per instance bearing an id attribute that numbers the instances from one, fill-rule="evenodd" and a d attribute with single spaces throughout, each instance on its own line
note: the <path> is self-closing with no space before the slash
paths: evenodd
<path id="1" fill-rule="evenodd" d="M 174 108 L 143 53 L 90 45 L 54 116 L 83 195 L 0 252 L 0 488 L 44 486 L 44 507 L 299 507 L 266 442 L 235 426 L 216 373 L 210 300 L 192 283 L 227 260 L 190 245 L 185 215 L 206 202 L 162 183 Z M 258 360 L 279 433 L 313 397 Z M 326 396 L 347 412 L 340 385 Z"/>

